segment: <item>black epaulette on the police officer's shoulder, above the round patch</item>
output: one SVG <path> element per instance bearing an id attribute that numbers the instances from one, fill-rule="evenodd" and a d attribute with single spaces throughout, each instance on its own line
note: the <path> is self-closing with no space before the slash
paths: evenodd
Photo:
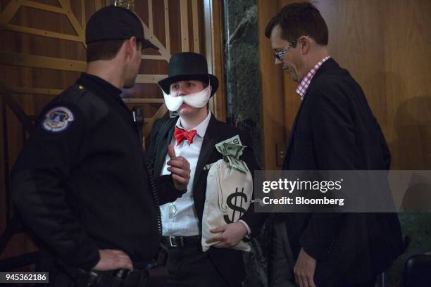
<path id="1" fill-rule="evenodd" d="M 79 84 L 73 84 L 65 89 L 56 101 L 71 103 L 77 106 L 89 122 L 101 120 L 108 114 L 108 106 L 98 96 Z"/>

